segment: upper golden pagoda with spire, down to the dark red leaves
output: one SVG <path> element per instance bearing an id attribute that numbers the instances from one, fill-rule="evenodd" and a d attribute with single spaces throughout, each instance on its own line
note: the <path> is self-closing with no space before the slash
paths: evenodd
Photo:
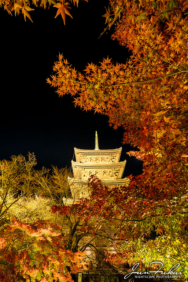
<path id="1" fill-rule="evenodd" d="M 76 161 L 72 160 L 71 162 L 74 178 L 68 177 L 73 201 L 89 196 L 90 191 L 87 181 L 91 175 L 96 175 L 103 185 L 128 186 L 129 179 L 122 179 L 126 160 L 119 162 L 122 147 L 119 149 L 100 150 L 96 131 L 94 150 L 74 148 L 74 151 Z M 69 201 L 70 199 L 66 199 L 67 204 L 69 204 Z"/>

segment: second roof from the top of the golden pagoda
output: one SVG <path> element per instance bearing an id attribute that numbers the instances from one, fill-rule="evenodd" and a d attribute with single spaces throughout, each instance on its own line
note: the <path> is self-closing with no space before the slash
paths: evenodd
<path id="1" fill-rule="evenodd" d="M 117 175 L 114 175 L 112 177 L 107 177 L 110 179 L 120 179 L 122 178 L 123 175 L 123 171 L 125 168 L 125 164 L 126 164 L 126 160 L 124 160 L 123 162 L 118 162 L 118 163 L 109 163 L 109 162 L 105 162 L 105 163 L 78 163 L 75 161 L 71 161 L 72 162 L 72 169 L 73 169 L 73 174 L 74 177 L 77 179 L 88 179 L 87 176 L 84 176 L 84 171 L 91 171 L 91 174 L 95 174 L 95 172 L 92 172 L 92 170 L 98 170 L 97 173 L 102 174 L 103 172 L 107 172 L 107 171 L 111 171 L 111 172 L 115 172 Z M 102 179 L 101 176 L 99 176 L 100 179 Z M 106 178 L 106 177 L 105 177 Z"/>

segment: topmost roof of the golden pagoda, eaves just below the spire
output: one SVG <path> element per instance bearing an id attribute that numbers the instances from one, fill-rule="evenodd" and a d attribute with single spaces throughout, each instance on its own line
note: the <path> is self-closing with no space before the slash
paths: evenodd
<path id="1" fill-rule="evenodd" d="M 118 149 L 109 149 L 109 150 L 84 150 L 84 149 L 77 149 L 74 148 L 75 150 L 75 156 L 76 156 L 76 162 L 80 162 L 81 161 L 81 157 L 82 156 L 98 156 L 98 157 L 102 157 L 102 156 L 111 156 L 111 155 L 115 155 L 115 162 L 119 162 L 120 159 L 120 155 L 121 155 L 121 151 L 122 151 L 122 147 L 118 148 Z"/>

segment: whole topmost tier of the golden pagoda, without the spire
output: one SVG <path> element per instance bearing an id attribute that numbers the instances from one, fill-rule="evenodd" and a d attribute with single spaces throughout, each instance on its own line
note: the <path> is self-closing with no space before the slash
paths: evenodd
<path id="1" fill-rule="evenodd" d="M 74 150 L 77 163 L 118 163 L 122 147 L 113 150 L 82 150 L 76 148 Z"/>

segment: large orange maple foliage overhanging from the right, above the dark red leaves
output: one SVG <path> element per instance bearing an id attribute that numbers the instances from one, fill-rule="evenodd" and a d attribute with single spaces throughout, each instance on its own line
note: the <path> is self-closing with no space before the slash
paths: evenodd
<path id="1" fill-rule="evenodd" d="M 60 96 L 76 96 L 75 105 L 82 109 L 107 115 L 114 128 L 123 126 L 123 142 L 138 146 L 140 152 L 133 154 L 144 161 L 143 174 L 130 182 L 130 189 L 145 194 L 144 205 L 152 199 L 183 205 L 188 175 L 187 3 L 124 3 L 112 38 L 132 50 L 130 60 L 125 65 L 113 65 L 108 58 L 100 66 L 91 63 L 84 75 L 60 56 L 48 82 Z M 149 21 L 158 8 L 164 13 Z"/>

